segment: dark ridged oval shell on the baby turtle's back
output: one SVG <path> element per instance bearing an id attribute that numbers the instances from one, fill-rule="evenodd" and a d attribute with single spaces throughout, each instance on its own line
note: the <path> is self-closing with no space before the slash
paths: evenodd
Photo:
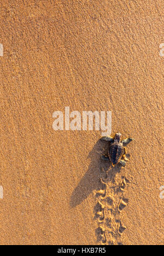
<path id="1" fill-rule="evenodd" d="M 118 164 L 118 162 L 121 159 L 121 156 L 124 152 L 124 149 L 121 145 L 121 143 L 114 142 L 109 147 L 108 156 L 110 161 L 115 165 Z"/>

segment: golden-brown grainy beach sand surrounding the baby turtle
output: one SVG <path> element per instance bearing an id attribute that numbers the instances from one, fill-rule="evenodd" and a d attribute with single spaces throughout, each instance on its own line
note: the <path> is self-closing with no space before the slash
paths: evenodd
<path id="1" fill-rule="evenodd" d="M 164 244 L 163 8 L 2 1 L 1 245 Z M 65 106 L 112 111 L 127 166 L 100 159 L 100 131 L 54 131 Z"/>

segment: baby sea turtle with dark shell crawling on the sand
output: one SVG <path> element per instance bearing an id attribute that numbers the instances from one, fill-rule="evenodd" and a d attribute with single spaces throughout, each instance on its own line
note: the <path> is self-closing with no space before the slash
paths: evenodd
<path id="1" fill-rule="evenodd" d="M 121 133 L 116 133 L 114 138 L 110 136 L 105 136 L 101 138 L 102 141 L 109 141 L 109 149 L 108 149 L 108 156 L 102 156 L 103 160 L 111 161 L 112 166 L 120 163 L 122 166 L 126 165 L 126 146 L 130 143 L 133 138 L 126 138 L 121 141 Z M 123 158 L 123 159 L 121 159 Z M 126 161 L 125 161 L 126 160 Z"/>

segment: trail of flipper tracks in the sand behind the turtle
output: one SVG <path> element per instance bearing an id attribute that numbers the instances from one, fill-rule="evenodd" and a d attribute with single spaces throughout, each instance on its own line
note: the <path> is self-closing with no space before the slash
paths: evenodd
<path id="1" fill-rule="evenodd" d="M 130 181 L 125 175 L 118 182 L 118 173 L 113 174 L 113 177 L 111 175 L 110 170 L 106 172 L 102 168 L 101 189 L 95 191 L 95 219 L 98 221 L 96 236 L 97 242 L 102 245 L 122 245 L 121 235 L 126 226 L 122 224 L 120 213 L 127 206 L 128 199 L 124 197 L 124 192 Z"/>

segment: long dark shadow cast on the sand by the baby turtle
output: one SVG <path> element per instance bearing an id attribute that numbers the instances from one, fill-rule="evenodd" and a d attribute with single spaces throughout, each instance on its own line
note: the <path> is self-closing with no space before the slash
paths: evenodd
<path id="1" fill-rule="evenodd" d="M 112 167 L 109 161 L 101 159 L 101 153 L 97 153 L 101 152 L 102 148 L 107 148 L 108 145 L 107 142 L 98 140 L 87 156 L 87 159 L 91 159 L 91 162 L 87 172 L 84 174 L 77 187 L 73 190 L 69 202 L 71 208 L 74 208 L 83 202 L 93 190 L 102 188 L 102 183 L 100 182 L 102 168 L 104 172 L 109 172 L 108 181 L 114 181 L 116 173 L 120 172 L 121 166 Z"/>

